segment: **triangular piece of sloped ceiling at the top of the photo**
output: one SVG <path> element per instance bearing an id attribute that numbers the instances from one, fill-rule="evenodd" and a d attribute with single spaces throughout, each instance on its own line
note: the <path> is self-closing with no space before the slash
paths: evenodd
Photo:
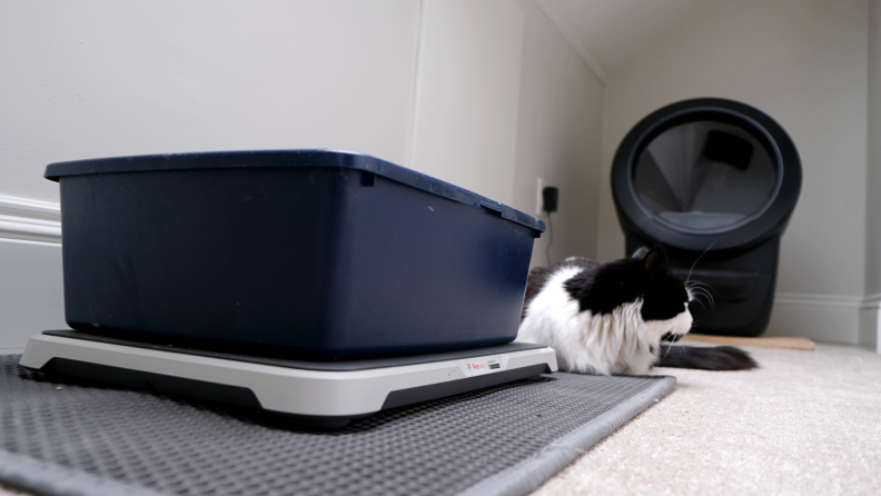
<path id="1" fill-rule="evenodd" d="M 605 85 L 707 0 L 537 0 Z"/>

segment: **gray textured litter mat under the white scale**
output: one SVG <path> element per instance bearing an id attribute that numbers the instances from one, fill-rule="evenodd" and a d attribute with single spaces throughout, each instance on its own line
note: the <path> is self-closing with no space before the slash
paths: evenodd
<path id="1" fill-rule="evenodd" d="M 51 495 L 524 495 L 676 384 L 557 373 L 321 431 L 18 360 L 0 355 L 0 484 Z"/>

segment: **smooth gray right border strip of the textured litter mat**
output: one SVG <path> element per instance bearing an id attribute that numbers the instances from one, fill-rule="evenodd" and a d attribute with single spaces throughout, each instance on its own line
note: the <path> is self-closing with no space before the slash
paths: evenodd
<path id="1" fill-rule="evenodd" d="M 676 387 L 676 378 L 673 376 L 652 377 L 657 377 L 657 383 L 647 387 L 639 396 L 627 399 L 551 443 L 531 458 L 481 480 L 459 493 L 458 496 L 524 496 L 537 489 L 593 445 L 646 410 Z"/>

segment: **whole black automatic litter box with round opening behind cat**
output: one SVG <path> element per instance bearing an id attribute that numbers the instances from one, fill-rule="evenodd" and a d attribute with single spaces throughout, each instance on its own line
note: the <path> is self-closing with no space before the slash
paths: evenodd
<path id="1" fill-rule="evenodd" d="M 662 245 L 676 276 L 711 288 L 714 306 L 690 306 L 703 334 L 764 333 L 780 236 L 800 190 L 799 153 L 783 128 L 753 107 L 715 98 L 651 113 L 612 163 L 627 252 Z"/>

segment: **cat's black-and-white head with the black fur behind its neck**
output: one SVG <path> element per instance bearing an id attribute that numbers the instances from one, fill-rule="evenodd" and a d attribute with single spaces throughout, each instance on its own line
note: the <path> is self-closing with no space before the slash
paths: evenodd
<path id="1" fill-rule="evenodd" d="M 659 337 L 691 329 L 691 295 L 670 271 L 663 248 L 640 248 L 633 257 L 603 265 L 591 279 L 583 281 L 578 298 L 582 310 L 610 314 L 622 305 L 642 300 L 642 319 L 660 333 Z"/>

